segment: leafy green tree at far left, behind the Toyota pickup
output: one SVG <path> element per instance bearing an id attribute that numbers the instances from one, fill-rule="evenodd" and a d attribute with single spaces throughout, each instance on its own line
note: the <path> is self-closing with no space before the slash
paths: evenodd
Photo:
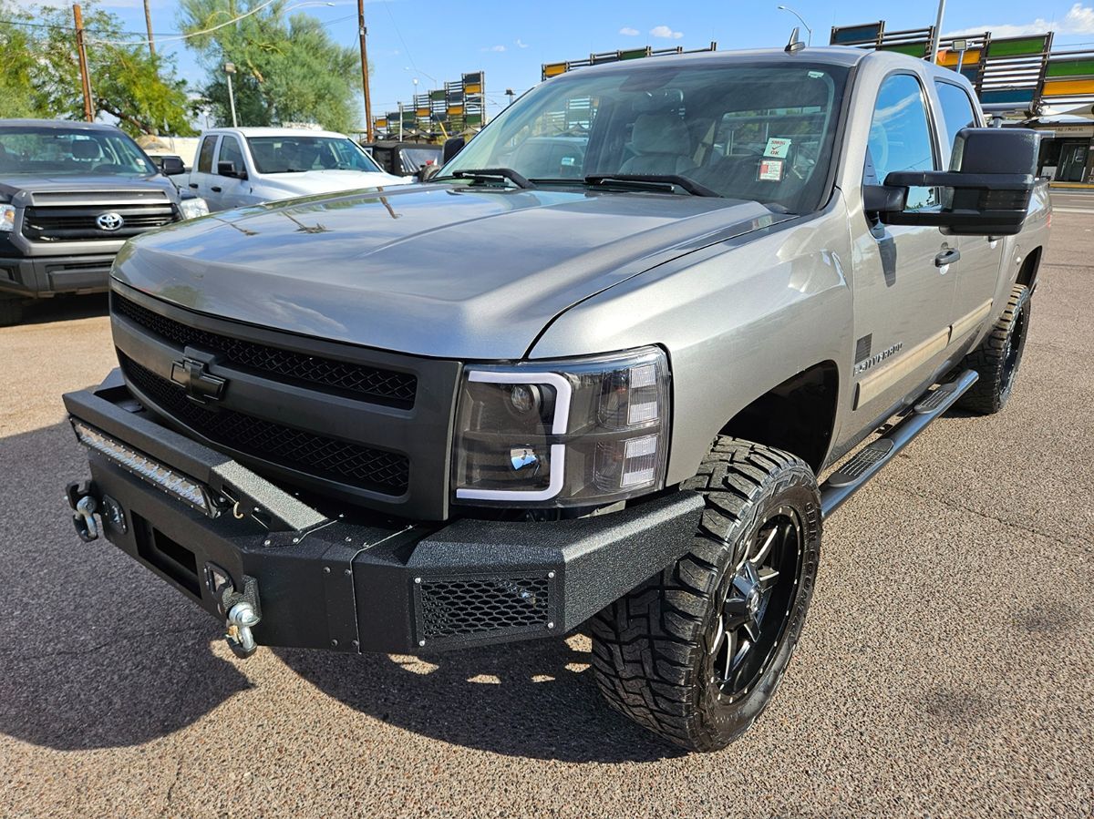
<path id="1" fill-rule="evenodd" d="M 190 136 L 185 83 L 170 58 L 154 57 L 120 21 L 83 3 L 88 70 L 95 109 L 129 133 Z M 0 0 L 0 117 L 81 119 L 83 92 L 71 8 Z"/>

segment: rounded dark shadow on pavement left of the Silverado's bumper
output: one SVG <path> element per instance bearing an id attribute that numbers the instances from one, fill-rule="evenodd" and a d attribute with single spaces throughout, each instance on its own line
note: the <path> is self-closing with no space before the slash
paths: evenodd
<path id="1" fill-rule="evenodd" d="M 141 745 L 251 687 L 217 622 L 80 542 L 62 493 L 86 473 L 68 423 L 0 438 L 0 733 L 58 750 Z"/>

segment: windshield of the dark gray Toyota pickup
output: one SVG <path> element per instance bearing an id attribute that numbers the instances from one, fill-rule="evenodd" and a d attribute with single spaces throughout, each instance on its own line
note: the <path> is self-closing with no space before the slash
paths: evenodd
<path id="1" fill-rule="evenodd" d="M 5 126 L 0 173 L 49 176 L 152 176 L 159 173 L 121 131 Z"/>

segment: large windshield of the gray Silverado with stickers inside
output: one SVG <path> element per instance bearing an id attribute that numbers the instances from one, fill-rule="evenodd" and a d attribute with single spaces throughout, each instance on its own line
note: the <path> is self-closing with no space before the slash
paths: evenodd
<path id="1" fill-rule="evenodd" d="M 488 168 L 537 185 L 683 177 L 693 190 L 804 213 L 829 194 L 846 79 L 845 68 L 796 58 L 707 66 L 651 58 L 627 70 L 578 70 L 503 110 L 439 178 Z"/>

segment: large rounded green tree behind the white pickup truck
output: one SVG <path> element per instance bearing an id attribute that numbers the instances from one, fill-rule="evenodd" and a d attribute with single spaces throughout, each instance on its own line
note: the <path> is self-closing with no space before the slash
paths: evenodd
<path id="1" fill-rule="evenodd" d="M 212 28 L 263 4 L 263 0 L 182 0 L 179 27 L 186 33 Z M 330 39 L 315 17 L 288 15 L 278 0 L 237 23 L 191 37 L 208 72 L 207 105 L 219 125 L 231 125 L 223 66 L 236 67 L 232 85 L 240 125 L 316 122 L 336 131 L 353 130 L 359 116 L 357 52 Z"/>

